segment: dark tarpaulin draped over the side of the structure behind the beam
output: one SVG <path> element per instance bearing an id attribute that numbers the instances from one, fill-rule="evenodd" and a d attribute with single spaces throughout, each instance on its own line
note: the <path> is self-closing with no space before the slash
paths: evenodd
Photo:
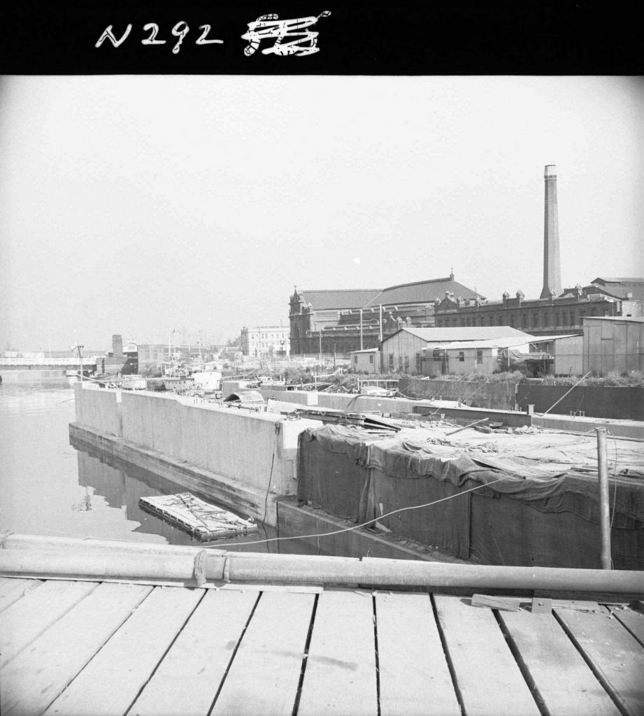
<path id="1" fill-rule="evenodd" d="M 372 437 L 339 425 L 309 428 L 300 435 L 297 496 L 356 523 L 377 518 L 397 536 L 463 559 L 596 568 L 596 475 L 522 478 L 494 462 L 441 445 L 414 445 L 400 435 Z M 642 569 L 644 484 L 611 480 L 610 502 L 614 565 Z M 428 503 L 436 504 L 401 509 Z"/>

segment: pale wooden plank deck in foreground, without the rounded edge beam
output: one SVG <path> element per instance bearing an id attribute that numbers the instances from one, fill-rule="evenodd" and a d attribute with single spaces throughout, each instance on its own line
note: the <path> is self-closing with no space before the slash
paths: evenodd
<path id="1" fill-rule="evenodd" d="M 29 584 L 33 586 L 29 589 Z M 644 713 L 644 614 L 3 578 L 3 716 Z"/>

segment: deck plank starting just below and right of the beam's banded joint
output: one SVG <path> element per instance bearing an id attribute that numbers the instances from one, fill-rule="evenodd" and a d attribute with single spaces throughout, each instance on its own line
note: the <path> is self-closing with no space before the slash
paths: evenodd
<path id="1" fill-rule="evenodd" d="M 208 589 L 128 716 L 207 716 L 258 596 Z"/>

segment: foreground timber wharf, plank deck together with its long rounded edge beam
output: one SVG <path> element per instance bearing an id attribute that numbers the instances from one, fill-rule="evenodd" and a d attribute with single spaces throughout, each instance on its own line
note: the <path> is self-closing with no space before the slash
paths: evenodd
<path id="1" fill-rule="evenodd" d="M 3 716 L 644 712 L 641 573 L 205 553 L 4 538 Z"/>

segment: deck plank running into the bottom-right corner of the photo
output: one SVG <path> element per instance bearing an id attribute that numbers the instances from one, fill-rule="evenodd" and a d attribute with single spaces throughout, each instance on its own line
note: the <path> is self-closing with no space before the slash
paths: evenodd
<path id="1" fill-rule="evenodd" d="M 644 713 L 644 647 L 620 621 L 606 614 L 556 609 L 570 638 L 623 712 Z"/>

